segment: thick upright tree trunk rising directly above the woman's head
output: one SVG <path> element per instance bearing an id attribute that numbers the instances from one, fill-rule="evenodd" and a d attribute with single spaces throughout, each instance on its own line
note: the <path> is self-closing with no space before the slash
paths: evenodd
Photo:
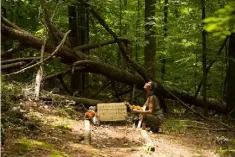
<path id="1" fill-rule="evenodd" d="M 156 76 L 156 0 L 145 0 L 145 41 L 144 64 L 150 77 Z"/>

